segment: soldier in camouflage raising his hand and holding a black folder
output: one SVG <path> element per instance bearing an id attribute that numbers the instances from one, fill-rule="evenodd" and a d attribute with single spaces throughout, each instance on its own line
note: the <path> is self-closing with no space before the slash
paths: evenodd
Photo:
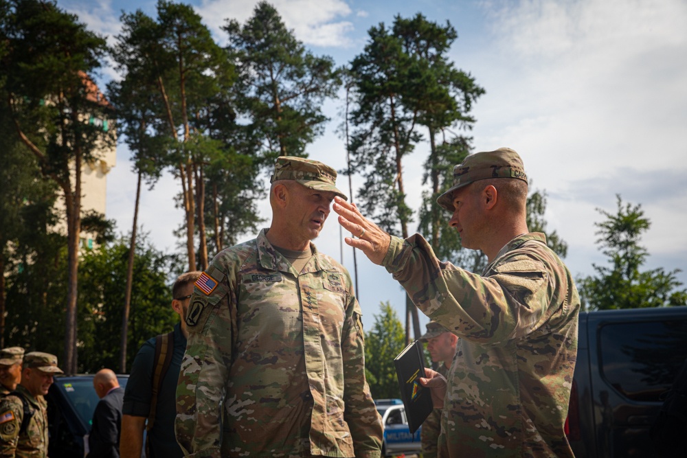
<path id="1" fill-rule="evenodd" d="M 572 457 L 563 432 L 577 356 L 580 299 L 572 275 L 528 232 L 527 176 L 508 148 L 453 170 L 437 202 L 462 245 L 481 249 L 482 275 L 439 262 L 418 234 L 390 237 L 336 199 L 346 238 L 394 275 L 427 316 L 460 336 L 442 411 L 440 457 Z M 441 384 L 428 371 L 428 386 Z M 436 391 L 436 390 L 433 390 Z M 434 393 L 433 393 L 434 394 Z"/>

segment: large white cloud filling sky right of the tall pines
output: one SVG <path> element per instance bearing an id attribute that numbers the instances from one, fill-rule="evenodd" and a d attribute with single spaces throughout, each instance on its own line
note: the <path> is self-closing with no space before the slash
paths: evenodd
<path id="1" fill-rule="evenodd" d="M 475 105 L 475 147 L 521 153 L 549 194 L 549 227 L 570 244 L 572 270 L 592 273 L 596 207 L 614 211 L 616 193 L 651 219 L 642 242 L 656 262 L 687 255 L 687 3 L 482 5 L 486 49 L 463 43 L 455 57 L 487 91 Z"/>

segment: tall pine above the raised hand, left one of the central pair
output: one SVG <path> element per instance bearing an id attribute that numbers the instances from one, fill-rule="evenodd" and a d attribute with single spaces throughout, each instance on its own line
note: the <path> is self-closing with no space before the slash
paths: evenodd
<path id="1" fill-rule="evenodd" d="M 358 191 L 365 214 L 385 231 L 407 237 L 412 209 L 405 203 L 402 163 L 421 139 L 415 130 L 419 113 L 403 104 L 411 97 L 412 58 L 383 23 L 368 34 L 365 49 L 350 63 L 350 169 L 365 178 Z"/>

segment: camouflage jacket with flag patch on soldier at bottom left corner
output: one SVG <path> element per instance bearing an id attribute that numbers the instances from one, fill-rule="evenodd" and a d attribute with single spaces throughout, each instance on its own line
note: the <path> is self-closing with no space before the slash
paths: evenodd
<path id="1" fill-rule="evenodd" d="M 45 458 L 47 457 L 47 402 L 43 396 L 34 398 L 21 385 L 16 391 L 29 402 L 34 415 L 26 431 L 19 434 L 24 418 L 24 404 L 19 396 L 5 396 L 0 400 L 0 457 Z"/>

